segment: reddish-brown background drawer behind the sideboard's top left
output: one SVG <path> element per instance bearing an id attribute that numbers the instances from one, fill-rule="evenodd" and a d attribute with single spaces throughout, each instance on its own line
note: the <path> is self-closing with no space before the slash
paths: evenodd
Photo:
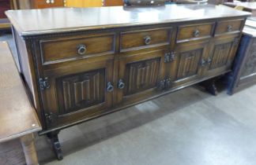
<path id="1" fill-rule="evenodd" d="M 63 7 L 63 0 L 33 0 L 32 7 L 35 9 L 51 8 L 51 7 Z"/>

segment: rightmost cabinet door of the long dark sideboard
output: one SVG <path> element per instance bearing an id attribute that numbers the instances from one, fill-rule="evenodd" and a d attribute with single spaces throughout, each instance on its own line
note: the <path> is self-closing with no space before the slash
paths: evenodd
<path id="1" fill-rule="evenodd" d="M 215 38 L 209 57 L 205 59 L 208 64 L 206 75 L 218 75 L 228 72 L 232 67 L 238 44 L 239 36 L 237 35 Z"/>

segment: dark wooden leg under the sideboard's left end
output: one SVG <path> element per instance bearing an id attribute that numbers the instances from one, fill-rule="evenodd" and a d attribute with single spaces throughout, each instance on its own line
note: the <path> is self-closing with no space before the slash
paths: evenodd
<path id="1" fill-rule="evenodd" d="M 61 148 L 60 142 L 58 141 L 58 133 L 59 131 L 51 132 L 47 134 L 47 137 L 51 139 L 51 145 L 52 145 L 52 148 L 54 149 L 57 159 L 61 160 L 63 159 L 63 155 L 62 155 L 62 148 Z"/>

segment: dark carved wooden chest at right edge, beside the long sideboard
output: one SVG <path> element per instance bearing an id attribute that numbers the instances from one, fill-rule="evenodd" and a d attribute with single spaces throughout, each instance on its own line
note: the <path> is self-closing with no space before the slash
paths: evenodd
<path id="1" fill-rule="evenodd" d="M 256 83 L 256 20 L 250 17 L 243 28 L 232 72 L 228 74 L 228 94 Z"/>

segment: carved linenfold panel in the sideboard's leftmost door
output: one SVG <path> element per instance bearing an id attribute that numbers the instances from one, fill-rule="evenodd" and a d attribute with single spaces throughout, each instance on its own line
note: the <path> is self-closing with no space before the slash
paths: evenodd
<path id="1" fill-rule="evenodd" d="M 60 114 L 104 102 L 104 69 L 59 78 L 57 84 Z"/>

